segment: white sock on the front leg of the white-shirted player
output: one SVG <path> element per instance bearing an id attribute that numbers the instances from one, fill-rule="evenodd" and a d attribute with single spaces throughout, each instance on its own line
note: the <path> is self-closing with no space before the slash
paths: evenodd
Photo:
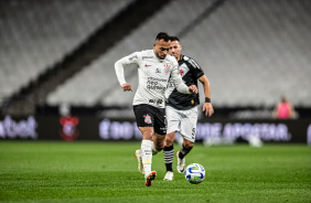
<path id="1" fill-rule="evenodd" d="M 141 141 L 140 156 L 144 169 L 144 177 L 148 177 L 151 173 L 152 146 L 153 146 L 153 141 L 150 140 Z"/>

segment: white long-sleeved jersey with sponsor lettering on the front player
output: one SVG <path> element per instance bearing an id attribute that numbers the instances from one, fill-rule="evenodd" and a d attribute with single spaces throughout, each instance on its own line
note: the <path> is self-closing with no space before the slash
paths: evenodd
<path id="1" fill-rule="evenodd" d="M 170 77 L 172 77 L 179 92 L 191 94 L 179 74 L 176 60 L 171 55 L 160 60 L 154 55 L 153 50 L 147 50 L 122 57 L 115 64 L 120 85 L 126 83 L 124 76 L 124 65 L 126 64 L 138 65 L 139 82 L 132 105 L 148 104 L 158 108 L 164 108 L 164 93 Z"/>

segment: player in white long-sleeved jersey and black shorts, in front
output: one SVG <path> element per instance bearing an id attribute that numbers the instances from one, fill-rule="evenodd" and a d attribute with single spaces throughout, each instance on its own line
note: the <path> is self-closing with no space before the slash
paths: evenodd
<path id="1" fill-rule="evenodd" d="M 142 133 L 140 150 L 136 150 L 138 170 L 144 174 L 146 185 L 151 186 L 157 177 L 151 171 L 152 154 L 164 148 L 167 135 L 165 89 L 171 77 L 176 89 L 183 94 L 197 94 L 195 85 L 186 86 L 179 74 L 176 60 L 168 55 L 170 36 L 160 32 L 153 50 L 135 52 L 115 64 L 116 74 L 124 92 L 132 90 L 124 76 L 124 65 L 138 65 L 138 88 L 133 97 L 133 111 L 139 130 Z"/>

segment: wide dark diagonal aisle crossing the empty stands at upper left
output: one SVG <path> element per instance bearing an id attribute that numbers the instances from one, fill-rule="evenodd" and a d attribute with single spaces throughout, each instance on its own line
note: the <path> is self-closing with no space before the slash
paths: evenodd
<path id="1" fill-rule="evenodd" d="M 82 41 L 69 54 L 64 55 L 62 61 L 58 61 L 44 74 L 40 75 L 35 82 L 30 83 L 26 87 L 22 87 L 18 94 L 7 99 L 4 107 L 2 107 L 3 111 L 7 114 L 17 114 L 21 110 L 24 114 L 33 113 L 35 106 L 45 103 L 46 94 L 51 89 L 63 84 L 66 78 L 83 70 L 84 66 L 92 63 L 98 55 L 104 54 L 119 39 L 122 39 L 132 29 L 136 29 L 168 1 L 147 2 L 137 0 L 129 3 L 109 21 L 104 22 L 96 32 L 88 35 L 87 40 Z M 46 7 L 46 4 L 43 4 L 43 7 Z M 115 7 L 119 8 L 116 2 Z"/>

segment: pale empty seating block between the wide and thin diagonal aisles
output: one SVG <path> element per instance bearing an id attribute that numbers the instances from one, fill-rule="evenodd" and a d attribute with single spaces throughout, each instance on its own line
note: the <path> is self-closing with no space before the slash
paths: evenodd
<path id="1" fill-rule="evenodd" d="M 202 1 L 192 1 L 190 8 L 186 7 L 187 1 L 185 0 L 173 1 L 168 4 L 139 29 L 121 40 L 116 46 L 111 47 L 111 50 L 99 60 L 90 64 L 88 68 L 85 68 L 83 73 L 71 78 L 68 83 L 49 95 L 47 103 L 50 105 L 69 103 L 77 106 L 94 106 L 97 104 L 129 106 L 135 93 L 122 93 L 116 78 L 114 68 L 115 62 L 135 51 L 152 49 L 154 38 L 160 31 L 178 33 L 183 26 L 191 23 L 192 20 L 203 12 L 204 9 L 208 8 L 212 2 L 211 0 L 204 1 L 202 4 Z M 176 15 L 180 17 L 181 13 L 186 13 L 186 15 L 183 15 L 181 19 L 175 18 Z M 174 24 L 179 24 L 180 28 L 172 26 Z M 137 86 L 137 68 L 129 67 L 129 70 L 126 70 L 126 74 L 130 76 L 128 79 L 132 82 L 132 85 Z M 81 83 L 85 78 L 89 83 Z M 74 89 L 76 88 L 81 90 L 75 92 Z M 120 97 L 122 97 L 122 99 L 119 99 Z"/>

